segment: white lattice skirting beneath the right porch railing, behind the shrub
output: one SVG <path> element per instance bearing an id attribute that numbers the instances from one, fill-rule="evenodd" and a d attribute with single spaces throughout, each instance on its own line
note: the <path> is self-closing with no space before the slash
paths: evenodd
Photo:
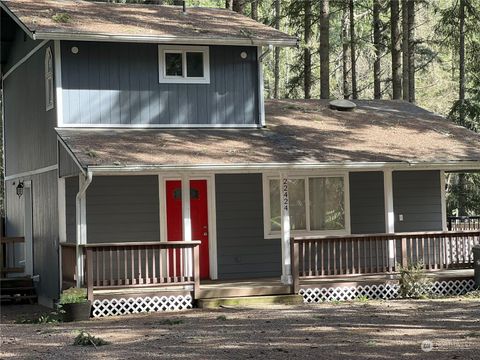
<path id="1" fill-rule="evenodd" d="M 360 297 L 367 299 L 395 299 L 399 296 L 398 284 L 365 285 L 352 287 L 308 288 L 300 289 L 305 303 L 318 303 L 324 301 L 348 301 Z M 435 281 L 431 292 L 435 295 L 463 295 L 474 290 L 475 282 L 469 280 Z"/>

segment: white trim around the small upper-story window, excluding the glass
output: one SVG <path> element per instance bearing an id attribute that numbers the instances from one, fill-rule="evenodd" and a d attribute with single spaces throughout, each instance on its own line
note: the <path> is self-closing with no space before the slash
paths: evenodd
<path id="1" fill-rule="evenodd" d="M 203 77 L 187 77 L 187 52 L 203 54 Z M 182 54 L 183 76 L 167 76 L 165 74 L 165 53 Z M 166 84 L 210 84 L 210 49 L 208 46 L 158 46 L 158 81 Z"/>

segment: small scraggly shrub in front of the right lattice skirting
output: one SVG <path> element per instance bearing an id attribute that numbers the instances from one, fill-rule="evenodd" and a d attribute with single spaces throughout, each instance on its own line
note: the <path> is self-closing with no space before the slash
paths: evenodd
<path id="1" fill-rule="evenodd" d="M 431 293 L 432 284 L 428 280 L 422 262 L 400 266 L 400 296 L 403 298 L 426 298 Z"/>

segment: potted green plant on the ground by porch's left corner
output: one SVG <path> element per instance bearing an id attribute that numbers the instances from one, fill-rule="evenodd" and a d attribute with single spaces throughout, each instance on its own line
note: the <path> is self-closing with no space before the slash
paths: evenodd
<path id="1" fill-rule="evenodd" d="M 70 288 L 60 295 L 59 307 L 65 322 L 90 319 L 91 306 L 86 289 Z"/>

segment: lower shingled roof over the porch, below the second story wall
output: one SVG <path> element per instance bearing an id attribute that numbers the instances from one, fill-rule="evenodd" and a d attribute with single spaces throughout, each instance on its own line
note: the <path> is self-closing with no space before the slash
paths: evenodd
<path id="1" fill-rule="evenodd" d="M 66 129 L 57 133 L 82 167 L 266 168 L 366 163 L 469 164 L 480 134 L 403 101 L 266 102 L 266 129 Z"/>

